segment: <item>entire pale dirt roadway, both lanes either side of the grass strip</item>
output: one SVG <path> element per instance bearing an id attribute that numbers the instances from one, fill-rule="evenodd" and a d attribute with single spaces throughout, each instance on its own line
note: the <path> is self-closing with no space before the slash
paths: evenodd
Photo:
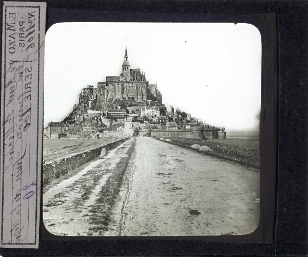
<path id="1" fill-rule="evenodd" d="M 99 225 L 90 225 L 88 217 L 99 205 L 100 188 L 112 169 L 131 150 L 107 229 L 100 231 Z M 247 234 L 259 223 L 260 173 L 255 169 L 148 137 L 126 141 L 86 169 L 44 194 L 43 218 L 50 232 L 105 236 Z M 95 233 L 89 233 L 90 229 Z"/>

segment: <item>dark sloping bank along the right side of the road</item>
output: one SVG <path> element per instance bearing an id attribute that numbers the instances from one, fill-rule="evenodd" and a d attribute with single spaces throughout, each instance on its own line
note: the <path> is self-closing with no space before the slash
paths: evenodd
<path id="1" fill-rule="evenodd" d="M 222 144 L 218 142 L 211 142 L 208 140 L 200 140 L 194 138 L 174 138 L 174 137 L 163 137 L 164 139 L 170 139 L 171 144 L 176 144 L 184 148 L 189 148 L 200 153 L 219 157 L 225 160 L 230 160 L 242 164 L 247 167 L 253 167 L 260 169 L 260 151 L 256 149 L 243 148 L 233 145 Z M 206 145 L 211 150 L 210 152 L 204 152 L 197 149 L 192 149 L 192 144 L 199 144 L 201 146 Z"/>

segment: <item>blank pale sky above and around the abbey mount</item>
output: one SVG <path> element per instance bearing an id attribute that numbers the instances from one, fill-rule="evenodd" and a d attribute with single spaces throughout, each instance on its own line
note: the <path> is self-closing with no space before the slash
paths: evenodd
<path id="1" fill-rule="evenodd" d="M 226 131 L 259 126 L 261 36 L 250 24 L 58 23 L 45 39 L 44 127 L 62 121 L 81 88 L 131 68 L 163 103 Z"/>

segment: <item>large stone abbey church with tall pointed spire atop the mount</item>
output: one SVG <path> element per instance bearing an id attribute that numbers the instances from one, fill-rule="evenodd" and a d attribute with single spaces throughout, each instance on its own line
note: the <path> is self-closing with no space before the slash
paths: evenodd
<path id="1" fill-rule="evenodd" d="M 157 89 L 157 83 L 149 84 L 145 74 L 140 68 L 131 69 L 127 47 L 120 76 L 106 76 L 106 82 L 99 82 L 97 87 L 98 97 L 106 100 L 153 100 L 162 103 L 162 95 Z"/>

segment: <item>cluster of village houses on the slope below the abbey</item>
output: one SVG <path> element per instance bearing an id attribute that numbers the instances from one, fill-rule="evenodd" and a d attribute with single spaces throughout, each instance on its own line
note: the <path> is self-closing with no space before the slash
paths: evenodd
<path id="1" fill-rule="evenodd" d="M 104 123 L 107 127 L 111 124 L 120 124 L 116 131 L 105 130 L 104 132 L 92 131 L 90 137 L 112 137 L 112 136 L 149 136 L 151 130 L 190 130 L 191 126 L 206 126 L 201 121 L 186 114 L 183 118 L 181 115 L 174 112 L 171 107 L 171 112 L 166 112 L 164 104 L 151 101 L 150 106 L 130 106 L 115 109 L 108 109 L 107 112 L 88 110 L 86 115 L 76 115 L 74 120 L 65 122 L 49 122 L 44 128 L 44 138 L 59 139 L 66 137 L 70 128 L 79 122 L 94 117 L 100 123 Z M 162 115 L 163 114 L 163 115 Z M 208 126 L 208 125 L 207 125 Z M 224 128 L 223 128 L 224 130 Z"/>

